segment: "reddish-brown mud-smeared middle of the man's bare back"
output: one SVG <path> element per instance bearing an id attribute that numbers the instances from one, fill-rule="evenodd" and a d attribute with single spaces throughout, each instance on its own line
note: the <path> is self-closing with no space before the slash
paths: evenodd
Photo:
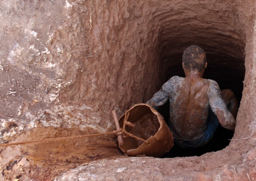
<path id="1" fill-rule="evenodd" d="M 173 130 L 181 133 L 181 137 L 190 139 L 201 135 L 206 129 L 205 120 L 209 109 L 206 96 L 208 88 L 209 82 L 206 80 L 190 82 L 184 78 L 181 79 L 177 89 L 180 92 L 176 101 L 173 101 L 173 107 L 170 108 Z"/>

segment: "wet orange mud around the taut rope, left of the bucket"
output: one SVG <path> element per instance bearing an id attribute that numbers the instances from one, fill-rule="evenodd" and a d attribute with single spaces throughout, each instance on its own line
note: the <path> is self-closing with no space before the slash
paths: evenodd
<path id="1" fill-rule="evenodd" d="M 63 130 L 40 127 L 17 136 L 17 139 L 11 142 L 84 134 L 85 131 L 79 128 Z M 22 181 L 27 178 L 42 181 L 52 180 L 61 172 L 83 163 L 111 156 L 122 156 L 123 154 L 118 150 L 116 142 L 113 141 L 114 137 L 114 135 L 103 135 L 1 147 L 0 158 L 3 167 L 0 180 L 19 179 Z M 49 177 L 45 178 L 45 173 L 48 173 Z"/>

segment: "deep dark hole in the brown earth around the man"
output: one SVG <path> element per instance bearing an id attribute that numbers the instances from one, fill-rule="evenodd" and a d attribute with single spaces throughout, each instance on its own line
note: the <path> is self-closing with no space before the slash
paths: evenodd
<path id="1" fill-rule="evenodd" d="M 168 16 L 171 16 L 169 14 Z M 173 25 L 173 19 L 162 24 L 159 33 L 159 55 L 156 65 L 160 84 L 151 87 L 152 95 L 172 76 L 184 77 L 182 69 L 182 53 L 191 45 L 198 45 L 206 52 L 207 69 L 204 78 L 217 81 L 220 89 L 231 89 L 238 103 L 242 98 L 243 80 L 245 77 L 245 36 L 244 32 L 234 31 L 226 21 L 210 22 L 209 19 L 179 19 L 183 25 Z M 230 18 L 230 17 L 228 17 Z M 209 26 L 209 24 L 211 26 Z M 168 121 L 169 102 L 160 107 L 160 114 Z M 165 157 L 200 156 L 211 151 L 222 150 L 228 146 L 233 131 L 218 126 L 212 140 L 201 148 L 182 149 L 176 145 Z"/>

